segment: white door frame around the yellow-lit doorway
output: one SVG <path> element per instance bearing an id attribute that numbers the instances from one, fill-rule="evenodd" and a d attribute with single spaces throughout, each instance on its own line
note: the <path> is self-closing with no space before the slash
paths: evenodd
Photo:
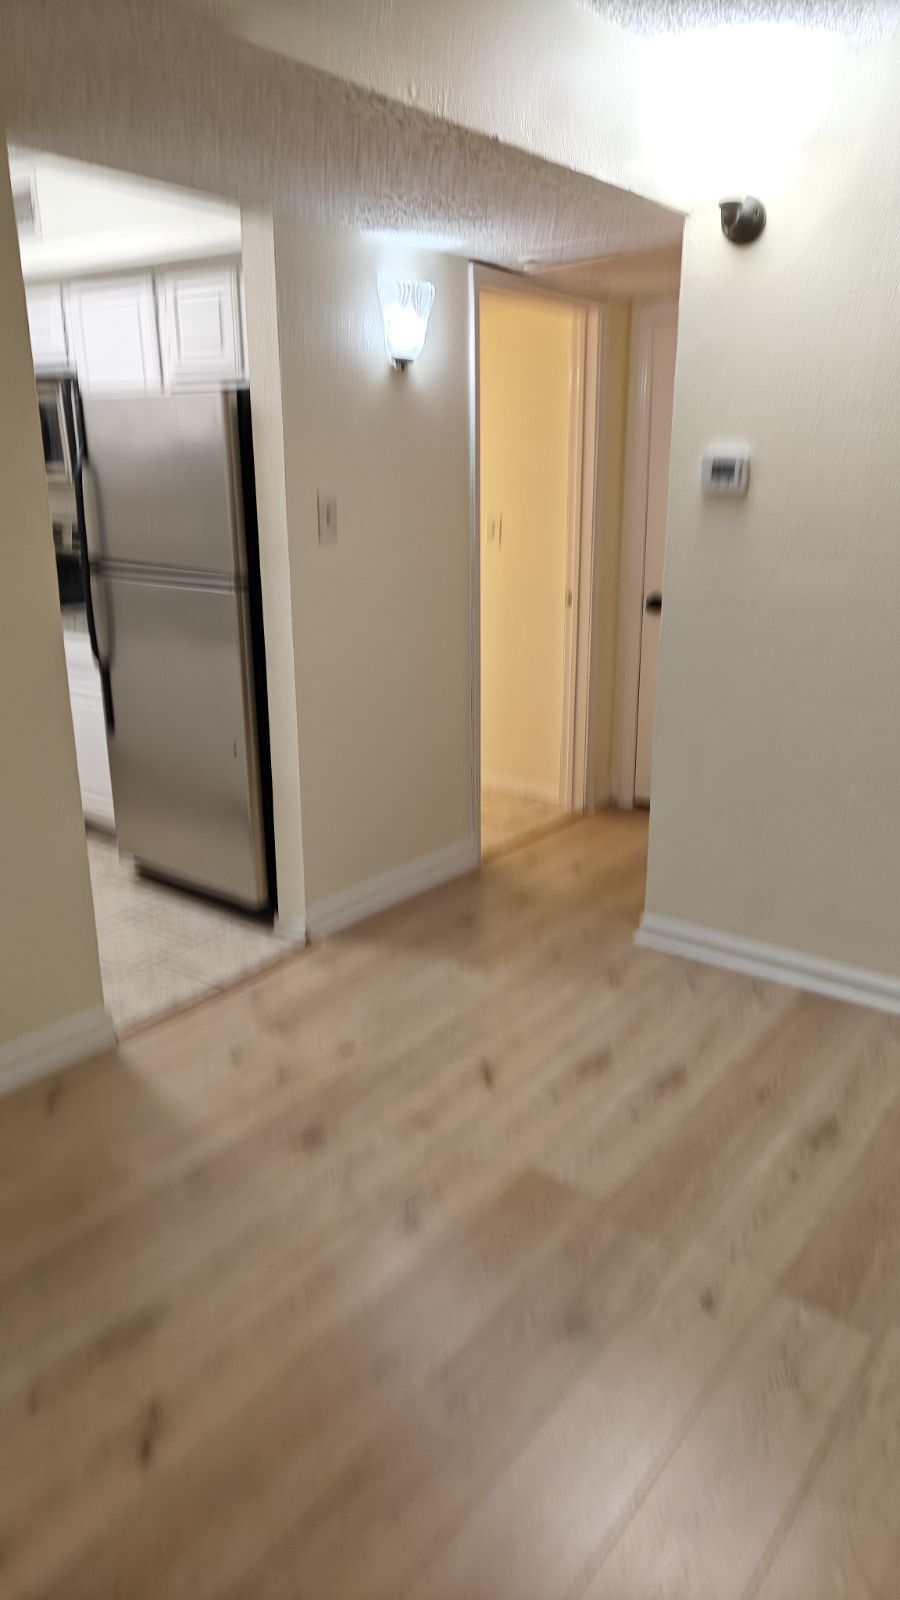
<path id="1" fill-rule="evenodd" d="M 594 803 L 594 739 L 593 739 L 593 618 L 596 565 L 596 477 L 599 459 L 597 427 L 601 418 L 602 374 L 602 306 L 580 296 L 565 294 L 532 283 L 527 277 L 484 267 L 469 270 L 469 456 L 471 456 L 471 582 L 469 582 L 469 659 L 471 659 L 471 819 L 472 838 L 480 859 L 480 290 L 525 294 L 530 299 L 552 299 L 575 307 L 581 315 L 573 334 L 573 374 L 570 394 L 570 462 L 569 462 L 569 531 L 567 531 L 567 610 L 562 704 L 562 750 L 559 803 L 565 811 L 589 811 Z"/>

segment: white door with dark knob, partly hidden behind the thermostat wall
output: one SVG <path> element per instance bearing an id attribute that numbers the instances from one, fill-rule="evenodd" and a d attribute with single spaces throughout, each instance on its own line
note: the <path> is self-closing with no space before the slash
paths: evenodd
<path id="1" fill-rule="evenodd" d="M 644 541 L 644 610 L 641 621 L 641 678 L 637 690 L 637 746 L 634 758 L 634 800 L 637 805 L 650 805 L 653 723 L 657 720 L 657 664 L 660 658 L 663 568 L 666 563 L 674 360 L 676 307 L 673 306 L 661 310 L 653 320 L 650 362 L 647 534 Z"/>

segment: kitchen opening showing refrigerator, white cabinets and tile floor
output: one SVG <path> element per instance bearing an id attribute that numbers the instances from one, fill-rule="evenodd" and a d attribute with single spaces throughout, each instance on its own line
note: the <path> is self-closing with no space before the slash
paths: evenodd
<path id="1" fill-rule="evenodd" d="M 10 150 L 104 1000 L 283 954 L 240 211 Z"/>

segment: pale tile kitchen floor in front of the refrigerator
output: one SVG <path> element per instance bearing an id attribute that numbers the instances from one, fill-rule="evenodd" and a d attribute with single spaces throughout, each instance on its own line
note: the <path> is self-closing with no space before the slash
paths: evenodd
<path id="1" fill-rule="evenodd" d="M 285 954 L 251 917 L 141 877 L 115 840 L 88 830 L 106 1008 L 117 1029 L 221 989 Z"/>

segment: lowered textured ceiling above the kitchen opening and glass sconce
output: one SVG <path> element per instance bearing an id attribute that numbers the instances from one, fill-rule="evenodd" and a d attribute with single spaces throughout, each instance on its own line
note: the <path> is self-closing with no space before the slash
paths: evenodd
<path id="1" fill-rule="evenodd" d="M 163 0 L 3 0 L 0 99 L 21 144 L 501 266 L 681 240 L 681 213 Z"/>

